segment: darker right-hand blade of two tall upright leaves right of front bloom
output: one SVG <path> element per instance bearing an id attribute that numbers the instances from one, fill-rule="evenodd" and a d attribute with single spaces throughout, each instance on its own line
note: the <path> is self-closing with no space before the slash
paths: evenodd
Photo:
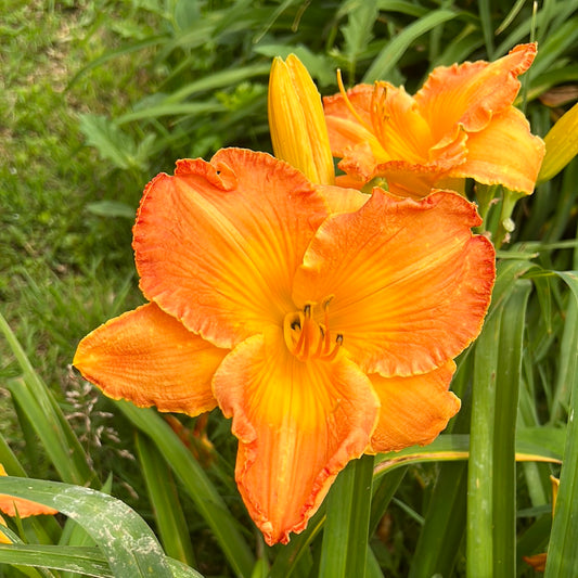
<path id="1" fill-rule="evenodd" d="M 519 280 L 502 313 L 493 429 L 493 576 L 516 571 L 515 433 L 522 374 L 523 335 L 531 282 Z M 496 345 L 498 347 L 498 345 Z"/>

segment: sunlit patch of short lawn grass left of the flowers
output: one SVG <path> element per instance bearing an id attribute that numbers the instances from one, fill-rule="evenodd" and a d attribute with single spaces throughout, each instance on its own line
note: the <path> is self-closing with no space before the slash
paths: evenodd
<path id="1" fill-rule="evenodd" d="M 102 16 L 89 3 L 9 4 L 0 30 L 0 298 L 36 367 L 63 386 L 74 336 L 99 308 L 97 317 L 108 314 L 132 274 L 130 221 L 91 215 L 87 204 L 113 194 L 136 205 L 142 184 L 84 146 L 78 115 L 123 110 L 146 79 L 138 60 L 125 59 L 66 90 L 74 73 L 118 38 L 97 27 Z M 113 18 L 128 8 L 105 10 Z"/>

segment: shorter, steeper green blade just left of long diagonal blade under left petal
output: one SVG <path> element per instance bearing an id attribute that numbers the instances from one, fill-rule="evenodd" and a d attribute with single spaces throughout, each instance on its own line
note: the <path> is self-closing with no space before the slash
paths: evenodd
<path id="1" fill-rule="evenodd" d="M 195 566 L 187 521 L 175 484 L 167 475 L 166 462 L 153 442 L 142 435 L 137 436 L 137 451 L 165 552 L 189 566 Z"/>

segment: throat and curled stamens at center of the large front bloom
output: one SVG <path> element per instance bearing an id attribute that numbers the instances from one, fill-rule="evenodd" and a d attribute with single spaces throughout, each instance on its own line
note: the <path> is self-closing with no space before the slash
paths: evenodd
<path id="1" fill-rule="evenodd" d="M 323 304 L 323 323 L 312 318 L 312 304 L 307 304 L 303 311 L 287 313 L 283 321 L 283 335 L 288 350 L 299 360 L 321 359 L 332 361 L 337 357 L 343 344 L 339 333 L 332 339 L 329 329 L 329 303 Z"/>

